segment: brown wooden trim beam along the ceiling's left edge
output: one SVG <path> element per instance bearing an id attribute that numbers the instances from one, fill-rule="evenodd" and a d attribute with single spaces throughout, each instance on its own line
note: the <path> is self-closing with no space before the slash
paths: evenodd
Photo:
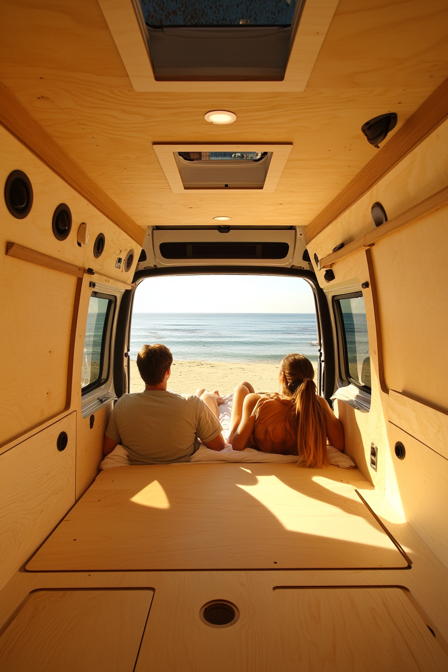
<path id="1" fill-rule="evenodd" d="M 2 83 L 0 97 L 0 124 L 75 192 L 114 222 L 138 245 L 143 245 L 144 230 L 73 161 Z"/>

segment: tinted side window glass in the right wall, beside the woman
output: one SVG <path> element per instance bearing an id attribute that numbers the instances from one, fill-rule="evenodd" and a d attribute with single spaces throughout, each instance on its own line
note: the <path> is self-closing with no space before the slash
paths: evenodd
<path id="1" fill-rule="evenodd" d="M 335 300 L 340 317 L 341 334 L 345 346 L 345 373 L 347 378 L 367 387 L 370 382 L 369 337 L 365 304 L 362 295 Z"/>

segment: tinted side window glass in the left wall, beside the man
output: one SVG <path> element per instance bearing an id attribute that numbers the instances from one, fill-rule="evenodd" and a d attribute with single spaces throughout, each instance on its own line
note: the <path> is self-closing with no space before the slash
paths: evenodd
<path id="1" fill-rule="evenodd" d="M 115 300 L 92 294 L 89 301 L 85 328 L 81 388 L 91 390 L 107 378 L 108 355 L 106 345 L 110 337 L 111 314 Z"/>

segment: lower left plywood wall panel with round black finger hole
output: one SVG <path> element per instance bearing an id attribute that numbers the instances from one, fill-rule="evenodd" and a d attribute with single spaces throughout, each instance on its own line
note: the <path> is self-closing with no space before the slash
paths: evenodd
<path id="1" fill-rule="evenodd" d="M 65 431 L 62 452 L 56 440 Z M 0 587 L 75 503 L 76 413 L 0 455 Z"/>

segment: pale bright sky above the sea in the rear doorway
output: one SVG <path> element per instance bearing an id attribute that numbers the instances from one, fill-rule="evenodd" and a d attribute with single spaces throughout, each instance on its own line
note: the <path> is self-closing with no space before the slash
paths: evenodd
<path id="1" fill-rule="evenodd" d="M 134 312 L 315 312 L 310 285 L 281 276 L 165 276 L 136 289 Z"/>

